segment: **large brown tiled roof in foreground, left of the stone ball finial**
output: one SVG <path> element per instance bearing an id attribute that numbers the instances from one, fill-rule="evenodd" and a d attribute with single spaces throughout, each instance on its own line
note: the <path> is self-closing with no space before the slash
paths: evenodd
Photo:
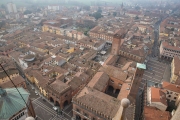
<path id="1" fill-rule="evenodd" d="M 98 90 L 85 87 L 75 98 L 89 109 L 97 110 L 106 116 L 114 117 L 120 107 L 120 100 L 106 95 Z"/>

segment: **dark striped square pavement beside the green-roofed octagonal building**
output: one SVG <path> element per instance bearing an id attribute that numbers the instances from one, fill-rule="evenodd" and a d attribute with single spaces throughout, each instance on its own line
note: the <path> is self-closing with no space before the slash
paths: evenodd
<path id="1" fill-rule="evenodd" d="M 32 101 L 37 120 L 71 120 L 72 117 L 72 104 L 64 108 L 62 115 L 53 109 L 53 105 L 49 101 L 43 101 L 39 96 Z"/>

